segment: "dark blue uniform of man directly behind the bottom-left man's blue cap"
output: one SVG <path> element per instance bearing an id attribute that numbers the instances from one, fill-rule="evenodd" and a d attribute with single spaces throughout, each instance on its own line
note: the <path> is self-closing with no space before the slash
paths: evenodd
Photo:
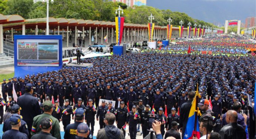
<path id="1" fill-rule="evenodd" d="M 21 120 L 21 126 L 18 129 L 21 133 L 25 133 L 27 136 L 29 136 L 28 129 L 27 129 L 27 123 L 23 120 Z M 10 118 L 4 121 L 3 126 L 3 132 L 6 132 L 7 130 L 11 130 L 11 124 L 10 124 Z"/>

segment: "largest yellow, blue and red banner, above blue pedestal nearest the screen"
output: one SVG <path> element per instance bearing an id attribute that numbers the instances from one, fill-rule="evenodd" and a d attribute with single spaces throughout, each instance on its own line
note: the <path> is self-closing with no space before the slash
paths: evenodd
<path id="1" fill-rule="evenodd" d="M 117 45 L 120 45 L 124 30 L 124 17 L 115 17 L 115 30 L 117 35 Z"/>

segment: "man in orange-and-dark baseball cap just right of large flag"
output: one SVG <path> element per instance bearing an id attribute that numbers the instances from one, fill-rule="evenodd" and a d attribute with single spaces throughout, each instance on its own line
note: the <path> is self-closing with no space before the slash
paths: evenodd
<path id="1" fill-rule="evenodd" d="M 199 121 L 201 122 L 203 118 L 206 116 L 210 116 L 210 120 L 213 120 L 212 115 L 214 114 L 212 110 L 209 109 L 209 101 L 207 99 L 201 99 L 201 101 L 198 103 L 198 106 L 201 110 L 202 116 L 200 117 Z"/>

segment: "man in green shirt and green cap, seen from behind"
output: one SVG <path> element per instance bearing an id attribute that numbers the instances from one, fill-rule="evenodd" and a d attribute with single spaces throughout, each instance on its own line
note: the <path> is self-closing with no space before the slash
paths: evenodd
<path id="1" fill-rule="evenodd" d="M 43 103 L 43 110 L 44 110 L 43 114 L 37 115 L 33 119 L 31 136 L 33 136 L 34 134 L 41 131 L 41 128 L 40 128 L 41 119 L 47 117 L 47 118 L 51 119 L 51 121 L 52 121 L 52 129 L 50 132 L 51 135 L 57 139 L 61 139 L 60 138 L 60 123 L 59 123 L 58 119 L 54 118 L 51 115 L 51 113 L 53 112 L 53 104 L 51 103 L 51 101 L 45 101 Z"/>

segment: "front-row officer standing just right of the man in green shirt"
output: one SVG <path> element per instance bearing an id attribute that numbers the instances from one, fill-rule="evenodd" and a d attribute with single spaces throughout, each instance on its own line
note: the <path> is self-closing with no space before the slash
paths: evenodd
<path id="1" fill-rule="evenodd" d="M 69 105 L 69 100 L 65 99 L 65 105 L 62 106 L 61 108 L 61 113 L 60 113 L 60 121 L 62 121 L 64 131 L 66 129 L 66 126 L 70 124 L 71 121 L 71 114 L 73 113 L 72 111 L 72 106 Z"/>

